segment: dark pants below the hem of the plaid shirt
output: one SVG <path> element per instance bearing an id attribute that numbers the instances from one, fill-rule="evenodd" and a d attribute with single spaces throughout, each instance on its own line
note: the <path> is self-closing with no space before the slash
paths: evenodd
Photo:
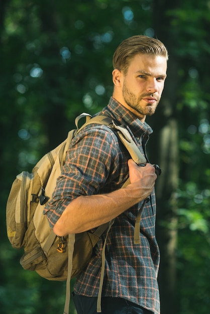
<path id="1" fill-rule="evenodd" d="M 73 295 L 74 304 L 77 314 L 97 314 L 96 303 L 97 297 L 88 297 L 83 295 Z M 102 297 L 101 298 L 101 313 L 102 314 L 153 314 L 148 309 L 145 309 L 135 303 L 117 297 Z"/>

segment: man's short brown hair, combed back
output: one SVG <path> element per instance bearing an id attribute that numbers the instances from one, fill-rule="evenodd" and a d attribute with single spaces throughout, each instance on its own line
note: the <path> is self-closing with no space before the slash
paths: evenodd
<path id="1" fill-rule="evenodd" d="M 125 39 L 113 56 L 113 67 L 127 73 L 131 60 L 137 54 L 163 56 L 168 60 L 168 51 L 161 41 L 144 35 Z"/>

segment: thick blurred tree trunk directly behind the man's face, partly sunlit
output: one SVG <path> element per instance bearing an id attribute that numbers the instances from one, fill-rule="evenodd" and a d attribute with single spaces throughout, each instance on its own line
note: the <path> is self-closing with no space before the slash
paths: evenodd
<path id="1" fill-rule="evenodd" d="M 157 240 L 161 261 L 158 276 L 161 299 L 161 314 L 175 314 L 176 284 L 176 242 L 177 215 L 176 189 L 178 186 L 178 121 L 176 103 L 178 90 L 178 63 L 173 54 L 175 40 L 170 26 L 168 10 L 176 7 L 177 1 L 154 2 L 155 36 L 169 51 L 167 79 L 158 109 L 152 117 L 154 134 L 149 144 L 150 159 L 162 168 L 162 174 L 156 184 L 157 198 Z M 161 26 L 164 28 L 161 28 Z M 168 27 L 166 27 L 168 26 Z M 155 153 L 154 153 L 155 152 Z"/>

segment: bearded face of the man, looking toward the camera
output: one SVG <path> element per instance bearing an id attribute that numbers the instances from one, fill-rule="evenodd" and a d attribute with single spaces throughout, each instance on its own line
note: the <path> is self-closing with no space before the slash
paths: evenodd
<path id="1" fill-rule="evenodd" d="M 160 100 L 166 78 L 167 61 L 163 56 L 136 55 L 126 75 L 122 75 L 123 105 L 140 119 L 152 115 Z"/>

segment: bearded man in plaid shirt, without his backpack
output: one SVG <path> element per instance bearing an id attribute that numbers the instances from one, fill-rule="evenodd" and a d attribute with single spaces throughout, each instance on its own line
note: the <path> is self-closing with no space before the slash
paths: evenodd
<path id="1" fill-rule="evenodd" d="M 113 96 L 99 113 L 127 127 L 146 158 L 145 145 L 152 129 L 145 118 L 155 112 L 160 100 L 167 60 L 167 50 L 159 40 L 134 36 L 123 41 L 113 57 Z M 120 189 L 128 177 L 130 184 Z M 85 126 L 67 153 L 46 215 L 58 236 L 92 230 L 115 218 L 106 244 L 103 314 L 160 313 L 156 178 L 149 161 L 145 167 L 138 167 L 108 126 Z M 148 197 L 141 218 L 141 244 L 134 244 L 136 216 Z M 105 236 L 101 236 L 95 254 L 75 282 L 78 314 L 96 313 Z"/>

